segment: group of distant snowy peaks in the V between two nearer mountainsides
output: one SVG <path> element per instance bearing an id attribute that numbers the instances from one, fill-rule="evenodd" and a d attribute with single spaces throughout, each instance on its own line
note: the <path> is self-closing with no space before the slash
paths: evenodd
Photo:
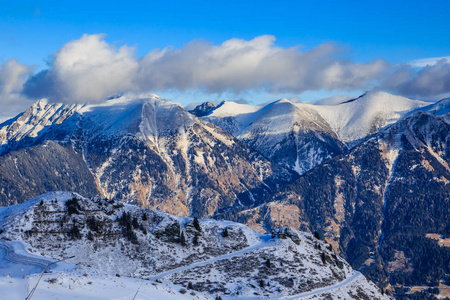
<path id="1" fill-rule="evenodd" d="M 385 92 L 368 92 L 338 105 L 292 103 L 287 99 L 263 106 L 225 101 L 218 106 L 204 103 L 191 113 L 268 157 L 279 172 L 289 170 L 301 175 L 428 104 Z"/>

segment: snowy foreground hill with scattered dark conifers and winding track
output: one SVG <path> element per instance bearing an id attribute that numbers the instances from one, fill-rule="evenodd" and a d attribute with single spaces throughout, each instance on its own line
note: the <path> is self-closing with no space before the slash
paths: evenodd
<path id="1" fill-rule="evenodd" d="M 390 299 L 330 245 L 291 228 L 260 235 L 233 222 L 175 217 L 69 192 L 2 208 L 0 228 L 0 261 L 8 262 L 0 264 L 0 274 L 13 271 L 13 278 L 0 277 L 0 295 L 24 293 L 20 284 L 27 282 L 29 292 L 36 276 L 23 275 L 66 259 L 44 276 L 37 299 L 119 299 L 126 289 L 137 295 L 139 281 L 144 286 L 137 299 L 153 290 L 161 299 L 185 299 L 186 293 L 191 299 Z M 38 269 L 14 273 L 24 263 Z"/>

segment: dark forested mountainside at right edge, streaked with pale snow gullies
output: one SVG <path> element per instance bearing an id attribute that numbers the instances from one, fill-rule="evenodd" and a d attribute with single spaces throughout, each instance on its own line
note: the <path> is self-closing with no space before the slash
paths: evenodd
<path id="1" fill-rule="evenodd" d="M 225 217 L 253 228 L 318 231 L 354 268 L 399 293 L 402 286 L 448 284 L 447 117 L 416 112 L 307 172 L 267 204 Z"/>

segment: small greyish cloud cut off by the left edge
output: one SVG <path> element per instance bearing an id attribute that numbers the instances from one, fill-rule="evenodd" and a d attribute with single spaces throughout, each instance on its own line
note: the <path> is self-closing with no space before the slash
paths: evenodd
<path id="1" fill-rule="evenodd" d="M 21 112 L 30 104 L 22 87 L 33 68 L 10 59 L 0 65 L 0 122 Z"/>

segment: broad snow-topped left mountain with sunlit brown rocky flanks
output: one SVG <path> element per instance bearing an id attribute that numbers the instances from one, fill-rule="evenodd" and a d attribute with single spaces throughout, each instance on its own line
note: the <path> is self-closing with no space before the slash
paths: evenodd
<path id="1" fill-rule="evenodd" d="M 83 177 L 80 173 L 69 174 L 75 185 L 78 182 L 89 188 L 76 191 L 178 215 L 208 216 L 239 205 L 239 201 L 251 202 L 249 190 L 262 185 L 271 174 L 270 163 L 261 155 L 222 129 L 155 95 L 125 95 L 86 106 L 40 101 L 0 128 L 0 167 L 11 156 L 20 158 L 17 153 L 21 149 L 30 145 L 41 149 L 44 141 L 51 140 L 64 146 L 67 156 L 46 157 L 51 168 L 62 165 L 58 168 L 66 174 L 73 168 L 72 162 L 84 160 L 84 166 L 78 168 L 84 172 L 84 181 L 78 180 Z M 42 165 L 41 152 L 29 157 L 28 165 L 21 164 L 25 169 L 8 168 L 32 173 L 31 169 Z M 48 178 L 28 177 L 30 195 L 43 189 L 68 188 L 58 177 L 58 168 L 51 169 L 55 175 L 49 170 Z M 85 176 L 86 169 L 92 175 Z M 17 181 L 7 178 L 6 167 L 4 170 L 0 173 L 5 182 L 0 192 L 3 204 L 17 202 L 11 198 L 13 194 L 4 192 L 13 189 L 11 185 Z"/>

